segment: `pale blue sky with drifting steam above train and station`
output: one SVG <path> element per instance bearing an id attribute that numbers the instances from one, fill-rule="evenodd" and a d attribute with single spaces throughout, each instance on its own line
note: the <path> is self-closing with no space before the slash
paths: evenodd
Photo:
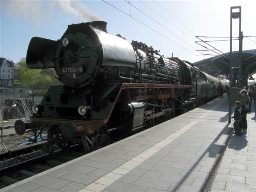
<path id="1" fill-rule="evenodd" d="M 175 57 L 196 62 L 211 57 L 201 53 L 215 54 L 196 51 L 205 49 L 195 43 L 199 41 L 196 35 L 230 36 L 231 6 L 241 6 L 243 35 L 256 35 L 256 0 L 109 0 L 107 3 L 0 0 L 0 57 L 16 63 L 26 57 L 29 41 L 34 36 L 57 40 L 71 23 L 104 20 L 108 22 L 110 34 L 121 34 L 129 42 L 144 42 L 166 57 L 173 53 Z M 238 19 L 233 20 L 234 37 L 238 36 L 238 26 Z M 243 50 L 256 49 L 256 37 L 249 38 L 244 38 Z M 203 38 L 204 41 L 218 39 Z M 230 51 L 229 41 L 210 45 L 222 52 Z M 238 41 L 233 41 L 233 50 L 238 50 Z"/>

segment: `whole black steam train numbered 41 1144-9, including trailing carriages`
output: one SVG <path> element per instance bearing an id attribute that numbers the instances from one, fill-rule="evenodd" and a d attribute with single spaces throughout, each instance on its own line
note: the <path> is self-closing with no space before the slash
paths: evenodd
<path id="1" fill-rule="evenodd" d="M 69 25 L 57 41 L 33 37 L 26 62 L 31 69 L 55 69 L 63 83 L 32 107 L 30 122 L 15 122 L 19 135 L 47 132 L 50 151 L 74 142 L 88 151 L 99 148 L 112 133 L 128 135 L 166 121 L 225 88 L 188 61 L 109 34 L 104 21 Z"/>

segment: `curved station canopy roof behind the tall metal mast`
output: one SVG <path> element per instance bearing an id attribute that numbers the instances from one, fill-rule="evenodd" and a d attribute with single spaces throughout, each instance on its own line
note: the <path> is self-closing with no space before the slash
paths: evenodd
<path id="1" fill-rule="evenodd" d="M 232 52 L 233 58 L 238 57 L 238 51 Z M 230 70 L 230 52 L 207 58 L 193 63 L 205 73 L 217 78 L 227 77 Z M 243 51 L 243 71 L 247 68 L 249 76 L 256 73 L 256 49 Z"/>

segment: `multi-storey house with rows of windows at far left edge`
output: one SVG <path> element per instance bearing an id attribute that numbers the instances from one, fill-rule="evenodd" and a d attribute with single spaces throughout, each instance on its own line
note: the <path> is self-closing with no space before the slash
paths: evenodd
<path id="1" fill-rule="evenodd" d="M 0 57 L 0 87 L 12 87 L 14 85 L 14 62 Z"/>

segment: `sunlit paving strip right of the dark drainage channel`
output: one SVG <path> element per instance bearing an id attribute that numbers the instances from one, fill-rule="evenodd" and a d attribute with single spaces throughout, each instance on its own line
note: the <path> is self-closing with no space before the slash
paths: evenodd
<path id="1" fill-rule="evenodd" d="M 256 116 L 253 109 L 252 103 L 252 111 L 247 114 L 247 134 L 233 135 L 228 143 L 212 192 L 256 191 Z"/>

